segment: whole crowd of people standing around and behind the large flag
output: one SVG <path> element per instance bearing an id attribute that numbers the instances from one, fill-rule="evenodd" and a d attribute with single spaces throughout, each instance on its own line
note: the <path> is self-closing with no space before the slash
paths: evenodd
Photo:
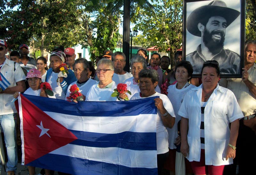
<path id="1" fill-rule="evenodd" d="M 0 40 L 0 81 L 6 79 L 10 83 L 0 89 L 0 125 L 7 149 L 8 175 L 16 173 L 17 145 L 21 145 L 20 128 L 14 127 L 20 123 L 19 116 L 14 103 L 10 103 L 19 92 L 68 100 L 71 87 L 76 85 L 82 101 L 116 101 L 111 94 L 119 83 L 125 83 L 131 92 L 120 94 L 121 100 L 156 97 L 159 175 L 164 168 L 177 175 L 223 174 L 229 164 L 235 164 L 235 169 L 237 164 L 240 174 L 255 172 L 255 41 L 246 42 L 242 78 L 220 79 L 219 63 L 208 60 L 202 65 L 200 80 L 196 81 L 202 82 L 199 86 L 191 80 L 193 66 L 182 60 L 181 51 L 173 58 L 158 53 L 148 58 L 147 51 L 140 49 L 132 57 L 130 72 L 126 72 L 126 57 L 119 51 L 106 50 L 97 57 L 94 66 L 84 58 L 76 59 L 74 49 L 56 46 L 48 68 L 44 57 L 36 60 L 28 57 L 26 44 L 21 44 L 19 51 L 12 51 L 10 60 L 5 57 L 7 49 L 6 41 Z M 171 59 L 176 63 L 173 69 L 170 69 Z M 63 64 L 69 67 L 66 76 L 60 74 Z M 53 96 L 40 89 L 42 82 L 50 84 Z M 76 99 L 72 101 L 78 103 Z M 238 160 L 233 163 L 236 156 Z M 29 175 L 36 174 L 35 167 L 28 166 L 28 170 Z M 46 175 L 52 173 L 41 171 Z"/>

